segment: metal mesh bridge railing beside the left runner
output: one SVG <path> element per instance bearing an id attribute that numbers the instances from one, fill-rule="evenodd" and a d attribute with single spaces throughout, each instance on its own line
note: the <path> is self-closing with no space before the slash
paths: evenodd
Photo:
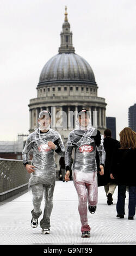
<path id="1" fill-rule="evenodd" d="M 29 178 L 22 160 L 0 159 L 0 202 L 26 190 Z"/>

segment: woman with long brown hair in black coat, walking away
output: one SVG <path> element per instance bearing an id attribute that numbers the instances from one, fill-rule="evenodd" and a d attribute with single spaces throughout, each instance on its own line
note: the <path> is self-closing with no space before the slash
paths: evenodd
<path id="1" fill-rule="evenodd" d="M 120 148 L 114 152 L 111 167 L 111 179 L 118 182 L 118 202 L 116 217 L 125 215 L 126 187 L 128 186 L 128 220 L 133 220 L 136 204 L 136 133 L 126 127 L 120 132 Z"/>

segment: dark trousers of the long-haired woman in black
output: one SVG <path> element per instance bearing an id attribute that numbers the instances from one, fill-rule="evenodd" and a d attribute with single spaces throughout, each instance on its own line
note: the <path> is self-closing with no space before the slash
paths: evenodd
<path id="1" fill-rule="evenodd" d="M 126 185 L 118 186 L 118 201 L 116 204 L 116 211 L 118 214 L 125 214 L 125 198 L 126 198 Z M 136 186 L 128 186 L 129 200 L 128 200 L 128 216 L 135 215 L 136 204 Z"/>

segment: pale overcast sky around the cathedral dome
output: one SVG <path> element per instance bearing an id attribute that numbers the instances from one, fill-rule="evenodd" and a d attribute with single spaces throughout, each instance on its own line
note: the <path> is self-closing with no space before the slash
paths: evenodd
<path id="1" fill-rule="evenodd" d="M 29 130 L 29 100 L 40 72 L 58 53 L 65 5 L 76 53 L 90 64 L 116 133 L 136 103 L 134 0 L 0 0 L 1 132 L 13 141 Z"/>

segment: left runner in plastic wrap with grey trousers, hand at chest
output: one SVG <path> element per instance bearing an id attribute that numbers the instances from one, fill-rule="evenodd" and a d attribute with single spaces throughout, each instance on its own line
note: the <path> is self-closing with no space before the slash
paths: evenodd
<path id="1" fill-rule="evenodd" d="M 39 128 L 27 138 L 22 152 L 23 164 L 30 173 L 28 190 L 32 190 L 33 207 L 31 226 L 38 226 L 38 218 L 41 215 L 41 201 L 45 197 L 44 216 L 40 221 L 43 234 L 50 234 L 50 216 L 53 208 L 53 192 L 56 172 L 54 151 L 61 156 L 65 155 L 63 141 L 57 131 L 50 128 L 51 114 L 41 111 L 39 114 Z M 28 162 L 29 152 L 33 151 L 32 165 Z"/>

